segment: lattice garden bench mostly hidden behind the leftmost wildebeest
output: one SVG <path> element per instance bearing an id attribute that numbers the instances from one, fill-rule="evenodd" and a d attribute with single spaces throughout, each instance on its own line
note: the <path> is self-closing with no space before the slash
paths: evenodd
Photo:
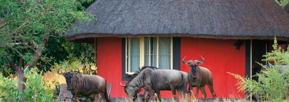
<path id="1" fill-rule="evenodd" d="M 67 85 L 66 84 L 61 84 L 60 86 L 60 92 L 59 92 L 59 99 L 58 102 L 71 102 L 73 101 L 73 95 L 69 90 L 66 89 Z M 107 96 L 108 99 L 110 100 L 110 91 L 111 91 L 112 84 L 107 84 L 106 85 L 106 91 L 107 91 Z M 98 94 L 98 98 L 103 102 L 103 99 L 101 98 L 100 94 Z M 86 101 L 91 98 L 78 98 L 79 101 Z M 94 101 L 95 102 L 95 101 Z"/>

